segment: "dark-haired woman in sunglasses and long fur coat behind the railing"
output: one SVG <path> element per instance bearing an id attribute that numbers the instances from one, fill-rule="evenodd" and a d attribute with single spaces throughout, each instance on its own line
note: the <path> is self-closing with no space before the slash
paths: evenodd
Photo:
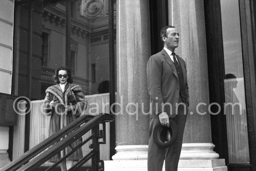
<path id="1" fill-rule="evenodd" d="M 80 85 L 74 85 L 71 72 L 67 67 L 59 67 L 55 71 L 54 82 L 56 85 L 50 86 L 46 90 L 46 97 L 43 102 L 43 108 L 46 115 L 49 115 L 49 136 L 62 129 L 64 126 L 73 122 L 87 107 Z M 74 93 L 77 102 L 67 102 L 67 95 Z M 74 113 L 74 111 L 76 111 Z M 74 141 L 71 146 L 75 147 L 79 140 Z M 65 150 L 51 158 L 50 162 L 57 162 L 72 149 L 68 146 Z M 61 171 L 67 171 L 74 161 L 82 158 L 81 148 L 75 151 L 71 156 L 61 162 Z"/>

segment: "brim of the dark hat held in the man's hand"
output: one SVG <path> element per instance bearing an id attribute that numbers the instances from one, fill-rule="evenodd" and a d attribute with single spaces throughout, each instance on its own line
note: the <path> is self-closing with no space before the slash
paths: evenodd
<path id="1" fill-rule="evenodd" d="M 169 119 L 169 123 L 170 123 L 170 127 L 168 129 L 172 132 L 172 137 L 167 142 L 162 142 L 161 136 L 160 136 L 163 127 L 166 127 L 166 126 L 162 126 L 161 123 L 159 122 L 155 125 L 155 128 L 153 129 L 153 139 L 155 141 L 155 144 L 158 145 L 160 148 L 170 147 L 171 145 L 173 145 L 175 143 L 175 141 L 177 139 L 178 127 L 177 127 L 175 121 L 172 119 Z"/>

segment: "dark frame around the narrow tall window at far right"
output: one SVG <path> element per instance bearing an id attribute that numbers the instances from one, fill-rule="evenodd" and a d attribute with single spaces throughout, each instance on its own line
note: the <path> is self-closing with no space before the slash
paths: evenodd
<path id="1" fill-rule="evenodd" d="M 224 54 L 222 42 L 222 22 L 220 0 L 204 0 L 205 26 L 207 39 L 208 74 L 210 103 L 221 104 L 224 97 Z M 241 39 L 243 51 L 243 72 L 245 100 L 247 110 L 249 164 L 229 164 L 226 117 L 223 113 L 211 115 L 212 139 L 215 151 L 220 158 L 225 158 L 229 171 L 256 170 L 256 62 L 255 62 L 255 28 L 252 14 L 252 0 L 239 0 Z M 212 109 L 215 111 L 216 109 Z M 222 110 L 223 111 L 223 110 Z"/>

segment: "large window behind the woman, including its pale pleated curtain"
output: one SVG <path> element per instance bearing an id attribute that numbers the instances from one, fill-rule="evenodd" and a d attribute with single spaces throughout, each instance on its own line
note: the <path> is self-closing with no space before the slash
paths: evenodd
<path id="1" fill-rule="evenodd" d="M 31 0 L 32 1 L 32 0 Z M 69 66 L 74 84 L 81 85 L 88 101 L 88 108 L 83 114 L 88 114 L 94 106 L 99 104 L 99 111 L 109 113 L 109 19 L 108 0 L 71 0 L 71 23 L 67 22 L 66 0 L 37 0 L 33 1 L 32 11 L 32 42 L 29 42 L 29 1 L 15 9 L 15 58 L 16 80 L 15 88 L 19 96 L 26 96 L 28 92 L 27 59 L 28 47 L 32 48 L 32 86 L 31 99 L 33 113 L 30 116 L 30 148 L 48 137 L 47 127 L 49 117 L 40 112 L 42 100 L 47 87 L 54 84 L 53 75 L 56 68 Z M 70 24 L 70 33 L 67 32 Z M 70 36 L 70 37 L 68 37 Z M 70 38 L 70 56 L 67 63 L 67 38 Z M 17 91 L 16 90 L 16 91 Z M 18 123 L 22 129 L 25 121 Z M 24 137 L 22 129 L 14 134 Z M 109 125 L 107 124 L 107 132 Z M 84 135 L 84 139 L 88 135 Z M 109 143 L 109 133 L 106 135 Z M 14 142 L 13 148 L 24 145 L 24 141 Z M 109 144 L 101 147 L 101 158 L 109 159 Z M 84 153 L 90 149 L 83 148 Z M 13 154 L 17 158 L 24 151 Z M 46 163 L 49 165 L 49 163 Z"/>

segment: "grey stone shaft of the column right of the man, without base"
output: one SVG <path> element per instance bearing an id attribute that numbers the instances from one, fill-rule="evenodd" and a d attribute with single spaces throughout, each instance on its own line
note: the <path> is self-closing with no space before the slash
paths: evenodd
<path id="1" fill-rule="evenodd" d="M 169 0 L 169 24 L 180 32 L 180 44 L 175 50 L 186 61 L 189 85 L 189 115 L 183 143 L 211 143 L 209 105 L 208 64 L 204 7 L 202 0 Z"/>

